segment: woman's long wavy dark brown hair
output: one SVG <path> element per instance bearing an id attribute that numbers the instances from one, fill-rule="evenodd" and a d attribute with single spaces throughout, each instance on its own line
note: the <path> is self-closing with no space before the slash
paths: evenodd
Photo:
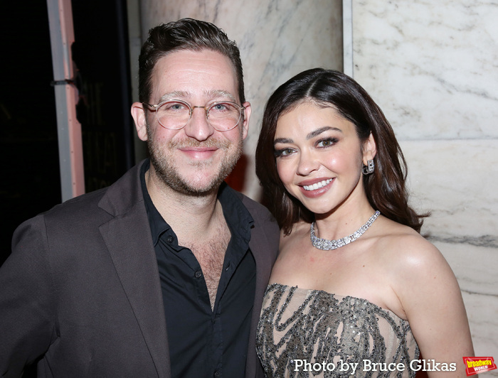
<path id="1" fill-rule="evenodd" d="M 265 205 L 285 234 L 290 234 L 292 225 L 299 220 L 312 222 L 314 215 L 287 193 L 280 181 L 273 139 L 280 116 L 306 101 L 336 109 L 356 126 L 360 141 L 366 141 L 372 134 L 377 148 L 375 171 L 363 176 L 370 205 L 385 217 L 420 232 L 423 217 L 427 215 L 418 215 L 408 206 L 406 161 L 383 112 L 351 77 L 334 70 L 314 68 L 292 77 L 268 99 L 256 148 L 256 174 L 263 186 Z"/>

